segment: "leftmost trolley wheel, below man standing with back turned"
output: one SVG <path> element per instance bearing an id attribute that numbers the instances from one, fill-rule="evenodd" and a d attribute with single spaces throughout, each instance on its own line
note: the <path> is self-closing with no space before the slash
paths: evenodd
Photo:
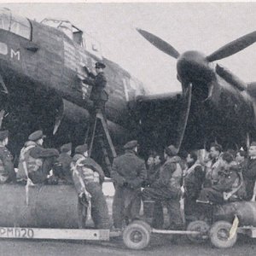
<path id="1" fill-rule="evenodd" d="M 123 241 L 125 246 L 140 250 L 148 246 L 150 241 L 150 226 L 142 220 L 136 220 L 125 227 Z"/>

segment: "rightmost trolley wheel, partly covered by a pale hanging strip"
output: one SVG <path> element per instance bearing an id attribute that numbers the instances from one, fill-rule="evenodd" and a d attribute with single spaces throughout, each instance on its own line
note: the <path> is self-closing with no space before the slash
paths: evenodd
<path id="1" fill-rule="evenodd" d="M 210 230 L 210 240 L 212 245 L 218 248 L 232 247 L 237 240 L 237 234 L 230 238 L 232 224 L 226 221 L 218 221 L 212 225 Z"/>

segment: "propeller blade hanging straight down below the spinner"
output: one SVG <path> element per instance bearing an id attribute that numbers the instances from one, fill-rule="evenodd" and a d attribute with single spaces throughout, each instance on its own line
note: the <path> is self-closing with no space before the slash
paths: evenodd
<path id="1" fill-rule="evenodd" d="M 186 87 L 187 87 L 187 89 L 184 92 L 184 99 L 185 99 L 186 105 L 184 106 L 184 112 L 183 112 L 182 118 L 180 119 L 179 124 L 178 124 L 179 135 L 178 135 L 178 139 L 177 139 L 177 151 L 179 151 L 181 144 L 183 143 L 183 137 L 184 137 L 185 130 L 187 127 L 187 123 L 188 123 L 188 119 L 189 119 L 189 111 L 190 111 L 190 106 L 191 106 L 192 84 L 190 83 Z"/>

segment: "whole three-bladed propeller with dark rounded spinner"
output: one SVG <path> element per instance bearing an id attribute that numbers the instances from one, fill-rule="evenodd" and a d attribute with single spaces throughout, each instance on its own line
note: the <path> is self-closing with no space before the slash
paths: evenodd
<path id="1" fill-rule="evenodd" d="M 230 55 L 236 54 L 242 49 L 246 49 L 248 46 L 256 42 L 256 31 L 248 33 L 241 38 L 237 38 L 229 44 L 225 44 L 223 47 L 217 49 L 211 55 L 207 56 L 201 54 L 198 51 L 187 51 L 183 53 L 183 55 L 180 55 L 177 49 L 172 47 L 171 44 L 166 43 L 166 41 L 158 38 L 154 34 L 146 32 L 139 28 L 137 28 L 137 32 L 139 32 L 143 36 L 143 38 L 147 39 L 148 42 L 150 44 L 153 44 L 157 49 L 160 49 L 162 52 L 166 53 L 166 55 L 170 55 L 173 58 L 177 59 L 178 80 L 183 85 L 184 96 L 184 104 L 182 107 L 183 109 L 181 110 L 182 116 L 178 124 L 178 136 L 176 144 L 179 150 L 183 142 L 184 132 L 186 130 L 189 118 L 192 96 L 192 82 L 194 83 L 200 80 L 201 76 L 204 77 L 204 79 L 207 81 L 207 83 L 205 84 L 207 84 L 208 87 L 208 96 L 205 102 L 209 100 L 212 97 L 214 89 L 214 81 L 212 80 L 214 78 L 214 73 L 212 72 L 212 67 L 211 65 L 209 65 L 209 62 L 224 59 Z M 224 72 L 224 76 L 226 77 L 226 79 L 227 77 L 228 79 L 230 79 L 230 74 L 226 71 Z M 234 80 L 232 76 L 231 79 L 232 81 Z M 205 84 L 201 84 L 201 86 Z M 246 86 L 241 86 L 241 83 L 237 82 L 236 88 L 238 88 L 239 90 L 245 90 Z"/>

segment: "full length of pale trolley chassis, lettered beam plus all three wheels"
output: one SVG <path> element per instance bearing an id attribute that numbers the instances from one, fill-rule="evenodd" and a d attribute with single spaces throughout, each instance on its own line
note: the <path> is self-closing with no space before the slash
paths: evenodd
<path id="1" fill-rule="evenodd" d="M 11 239 L 53 239 L 53 240 L 82 240 L 82 241 L 110 241 L 113 237 L 123 237 L 125 246 L 131 249 L 143 249 L 148 246 L 152 234 L 186 235 L 189 240 L 202 242 L 210 239 L 212 245 L 219 248 L 232 247 L 236 243 L 237 234 L 256 237 L 253 226 L 238 227 L 232 235 L 233 225 L 227 221 L 218 221 L 207 229 L 203 221 L 190 224 L 190 230 L 155 230 L 147 223 L 137 220 L 129 224 L 123 232 L 111 230 L 78 230 L 78 229 L 39 229 L 0 227 L 0 238 Z"/>

